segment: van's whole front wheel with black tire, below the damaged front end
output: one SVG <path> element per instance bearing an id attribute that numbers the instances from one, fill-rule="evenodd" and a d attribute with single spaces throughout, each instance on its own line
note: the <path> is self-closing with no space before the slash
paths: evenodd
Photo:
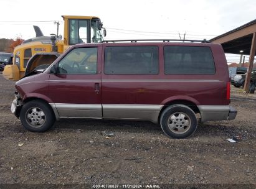
<path id="1" fill-rule="evenodd" d="M 33 100 L 24 104 L 19 117 L 25 129 L 32 132 L 47 131 L 55 122 L 55 115 L 49 104 L 40 100 Z"/>

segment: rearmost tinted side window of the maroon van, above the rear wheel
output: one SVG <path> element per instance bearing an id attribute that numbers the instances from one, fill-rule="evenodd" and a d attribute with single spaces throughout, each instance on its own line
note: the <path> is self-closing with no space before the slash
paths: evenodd
<path id="1" fill-rule="evenodd" d="M 215 74 L 210 47 L 164 47 L 165 74 Z"/>

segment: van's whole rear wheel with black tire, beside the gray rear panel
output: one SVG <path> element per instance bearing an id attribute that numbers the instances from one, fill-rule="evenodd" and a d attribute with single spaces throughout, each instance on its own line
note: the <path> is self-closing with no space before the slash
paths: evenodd
<path id="1" fill-rule="evenodd" d="M 167 136 L 175 139 L 184 139 L 196 131 L 197 118 L 194 111 L 188 106 L 173 104 L 164 109 L 161 114 L 160 124 Z"/>

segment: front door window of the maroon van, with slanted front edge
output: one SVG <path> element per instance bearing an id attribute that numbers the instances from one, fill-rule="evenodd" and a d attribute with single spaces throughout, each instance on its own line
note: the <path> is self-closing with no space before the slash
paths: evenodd
<path id="1" fill-rule="evenodd" d="M 60 74 L 97 74 L 98 48 L 75 48 L 59 62 Z"/>

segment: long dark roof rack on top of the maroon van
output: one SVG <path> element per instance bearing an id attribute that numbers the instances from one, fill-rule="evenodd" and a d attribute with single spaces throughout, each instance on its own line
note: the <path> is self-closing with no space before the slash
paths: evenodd
<path id="1" fill-rule="evenodd" d="M 103 40 L 103 43 L 115 43 L 115 42 L 143 42 L 143 41 L 163 41 L 163 42 L 201 42 L 201 43 L 211 43 L 209 40 L 189 40 L 189 39 L 120 39 L 120 40 Z"/>

